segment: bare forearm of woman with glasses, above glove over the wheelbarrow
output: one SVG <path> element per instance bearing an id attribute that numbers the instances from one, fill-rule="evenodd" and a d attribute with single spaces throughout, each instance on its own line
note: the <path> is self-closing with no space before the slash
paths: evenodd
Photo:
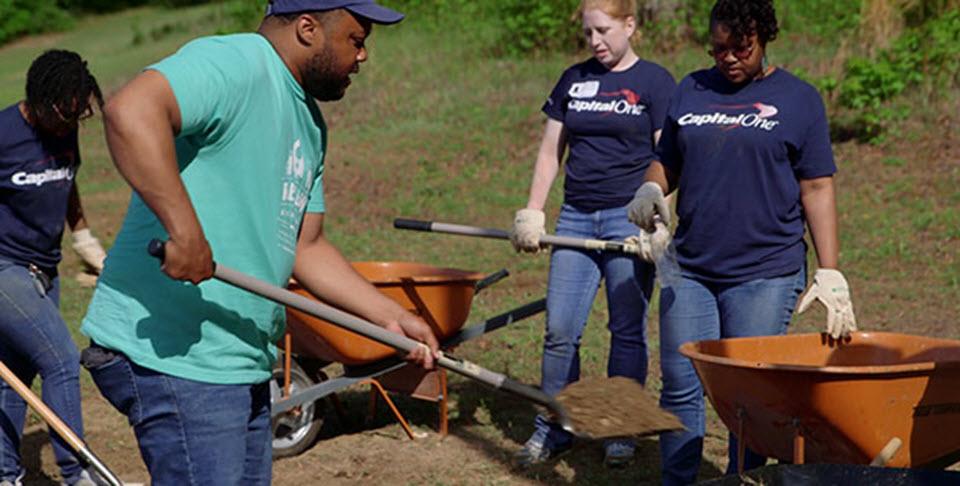
<path id="1" fill-rule="evenodd" d="M 800 201 L 810 227 L 819 268 L 836 269 L 840 254 L 833 177 L 800 181 Z"/>

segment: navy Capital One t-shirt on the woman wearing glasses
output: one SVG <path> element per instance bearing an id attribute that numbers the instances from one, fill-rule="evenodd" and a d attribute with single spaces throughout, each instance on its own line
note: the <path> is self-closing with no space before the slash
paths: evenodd
<path id="1" fill-rule="evenodd" d="M 680 82 L 658 149 L 679 176 L 678 261 L 695 278 L 745 282 L 798 271 L 801 179 L 836 172 L 823 101 L 783 69 L 736 86 L 716 69 Z"/>

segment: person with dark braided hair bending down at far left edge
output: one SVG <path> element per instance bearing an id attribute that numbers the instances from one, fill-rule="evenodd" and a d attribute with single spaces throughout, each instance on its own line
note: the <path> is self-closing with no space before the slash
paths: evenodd
<path id="1" fill-rule="evenodd" d="M 26 99 L 0 111 L 0 361 L 28 385 L 39 374 L 43 401 L 81 437 L 80 353 L 58 309 L 57 264 L 65 221 L 75 246 L 103 253 L 76 183 L 77 129 L 94 103 L 103 96 L 86 61 L 50 50 L 27 72 Z M 0 381 L 0 485 L 23 477 L 25 417 L 26 403 Z M 95 484 L 52 429 L 50 438 L 63 483 Z"/>

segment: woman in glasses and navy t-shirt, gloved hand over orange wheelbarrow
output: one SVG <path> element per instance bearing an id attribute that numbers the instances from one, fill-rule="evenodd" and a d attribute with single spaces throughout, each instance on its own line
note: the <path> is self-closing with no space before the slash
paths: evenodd
<path id="1" fill-rule="evenodd" d="M 629 205 L 652 228 L 678 191 L 674 243 L 683 278 L 661 293 L 661 405 L 687 430 L 660 438 L 664 484 L 696 480 L 703 449 L 703 389 L 678 348 L 688 341 L 783 334 L 806 283 L 804 224 L 819 263 L 802 312 L 819 298 L 828 331 L 855 330 L 837 271 L 836 166 L 817 91 L 766 63 L 776 38 L 772 0 L 719 0 L 710 15 L 714 66 L 681 81 L 664 123 L 659 162 Z M 737 465 L 730 438 L 729 470 Z M 748 451 L 745 468 L 764 458 Z"/>

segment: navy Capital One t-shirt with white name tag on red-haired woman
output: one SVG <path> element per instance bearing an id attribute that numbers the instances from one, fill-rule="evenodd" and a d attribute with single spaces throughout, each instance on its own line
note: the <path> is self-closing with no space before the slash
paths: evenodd
<path id="1" fill-rule="evenodd" d="M 653 132 L 675 88 L 666 69 L 644 60 L 613 72 L 590 58 L 563 73 L 543 112 L 567 130 L 564 202 L 581 211 L 630 202 L 656 158 Z"/>

